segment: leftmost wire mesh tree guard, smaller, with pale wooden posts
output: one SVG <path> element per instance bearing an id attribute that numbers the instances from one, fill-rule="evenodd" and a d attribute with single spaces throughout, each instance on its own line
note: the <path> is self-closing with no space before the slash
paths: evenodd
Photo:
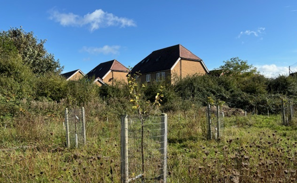
<path id="1" fill-rule="evenodd" d="M 85 113 L 81 109 L 65 109 L 65 126 L 67 147 L 86 144 Z"/>

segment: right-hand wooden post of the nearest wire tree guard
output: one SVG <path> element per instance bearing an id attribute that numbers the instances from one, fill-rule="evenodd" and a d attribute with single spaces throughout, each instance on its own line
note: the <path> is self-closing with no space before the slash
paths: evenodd
<path id="1" fill-rule="evenodd" d="M 161 170 L 162 183 L 167 182 L 167 114 L 161 114 L 161 154 L 163 169 Z"/>

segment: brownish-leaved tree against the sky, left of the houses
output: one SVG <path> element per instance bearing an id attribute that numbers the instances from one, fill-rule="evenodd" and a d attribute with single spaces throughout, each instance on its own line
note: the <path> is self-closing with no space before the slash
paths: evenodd
<path id="1" fill-rule="evenodd" d="M 8 31 L 2 31 L 0 36 L 12 41 L 23 63 L 28 65 L 35 75 L 41 76 L 47 72 L 60 73 L 63 70 L 59 60 L 55 60 L 54 55 L 44 48 L 46 40 L 38 40 L 33 32 L 27 33 L 22 27 L 11 28 Z"/>

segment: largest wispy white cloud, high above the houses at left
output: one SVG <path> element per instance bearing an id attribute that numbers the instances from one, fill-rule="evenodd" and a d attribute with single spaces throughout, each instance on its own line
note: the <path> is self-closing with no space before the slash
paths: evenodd
<path id="1" fill-rule="evenodd" d="M 49 13 L 49 18 L 51 20 L 59 22 L 63 26 L 87 25 L 89 26 L 90 31 L 110 26 L 136 26 L 134 20 L 115 16 L 112 13 L 103 11 L 102 9 L 96 9 L 94 12 L 87 13 L 83 16 L 79 16 L 74 13 L 61 13 L 56 9 L 51 9 Z"/>

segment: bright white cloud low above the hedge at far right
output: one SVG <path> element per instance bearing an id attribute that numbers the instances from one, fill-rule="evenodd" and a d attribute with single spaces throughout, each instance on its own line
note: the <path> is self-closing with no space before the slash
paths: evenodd
<path id="1" fill-rule="evenodd" d="M 288 75 L 289 67 L 271 65 L 258 65 L 257 70 L 264 76 L 268 78 L 275 78 L 279 75 Z"/>

